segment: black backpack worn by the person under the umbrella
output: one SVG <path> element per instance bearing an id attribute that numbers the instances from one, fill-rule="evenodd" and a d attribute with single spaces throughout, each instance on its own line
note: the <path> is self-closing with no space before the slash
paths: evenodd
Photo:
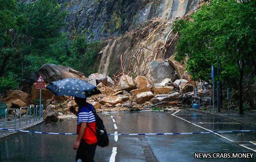
<path id="1" fill-rule="evenodd" d="M 88 108 L 93 112 L 93 115 L 95 116 L 95 119 L 96 119 L 96 133 L 93 131 L 93 129 L 91 127 L 89 127 L 89 126 L 88 127 L 96 135 L 97 140 L 98 140 L 97 145 L 100 147 L 106 147 L 106 146 L 108 146 L 109 140 L 108 140 L 108 134 L 107 134 L 106 128 L 103 124 L 103 121 L 97 115 L 95 110 L 92 110 L 91 107 L 89 107 L 89 106 L 88 106 Z"/>

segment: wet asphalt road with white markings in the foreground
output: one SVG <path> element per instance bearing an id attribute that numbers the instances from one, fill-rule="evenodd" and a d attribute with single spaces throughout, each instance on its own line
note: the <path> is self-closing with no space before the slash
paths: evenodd
<path id="1" fill-rule="evenodd" d="M 241 124 L 214 115 L 182 110 L 171 112 L 120 112 L 100 114 L 108 133 L 182 133 L 219 130 L 255 130 L 255 126 Z M 41 124 L 30 128 L 43 132 L 76 132 L 76 122 Z M 76 135 L 42 135 L 15 133 L 0 139 L 1 158 L 4 162 L 49 161 L 72 162 Z M 184 162 L 228 161 L 228 159 L 195 159 L 195 152 L 256 153 L 256 132 L 237 135 L 195 134 L 155 136 L 110 136 L 108 147 L 97 147 L 96 162 Z M 230 159 L 232 161 L 256 161 Z"/>

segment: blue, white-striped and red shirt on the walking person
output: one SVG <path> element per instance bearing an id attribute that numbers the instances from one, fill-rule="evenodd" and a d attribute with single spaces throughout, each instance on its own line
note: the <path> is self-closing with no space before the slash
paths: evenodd
<path id="1" fill-rule="evenodd" d="M 78 118 L 77 118 L 77 133 L 80 131 L 80 127 L 82 123 L 86 123 L 85 132 L 83 133 L 83 140 L 87 144 L 95 144 L 97 142 L 96 133 L 96 119 L 95 115 L 93 115 L 93 111 L 95 111 L 93 105 L 86 103 L 86 106 L 79 107 L 78 109 Z M 93 131 L 89 128 L 93 129 Z"/>

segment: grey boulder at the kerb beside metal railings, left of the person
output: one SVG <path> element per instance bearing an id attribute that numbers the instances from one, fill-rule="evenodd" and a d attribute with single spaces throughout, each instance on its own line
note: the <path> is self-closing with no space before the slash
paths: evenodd
<path id="1" fill-rule="evenodd" d="M 46 123 L 50 122 L 58 122 L 58 113 L 54 111 L 55 106 L 54 105 L 48 105 L 43 113 L 43 119 Z"/>

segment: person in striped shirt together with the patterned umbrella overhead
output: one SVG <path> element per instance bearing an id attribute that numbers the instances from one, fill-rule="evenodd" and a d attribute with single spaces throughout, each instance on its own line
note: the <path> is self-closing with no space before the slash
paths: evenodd
<path id="1" fill-rule="evenodd" d="M 51 82 L 46 89 L 58 96 L 74 96 L 74 100 L 78 104 L 78 111 L 74 107 L 70 107 L 70 111 L 78 116 L 78 137 L 73 145 L 73 149 L 77 150 L 76 162 L 94 162 L 97 137 L 96 119 L 92 111 L 95 109 L 93 105 L 86 102 L 86 98 L 98 94 L 100 91 L 85 80 L 72 78 Z"/>

